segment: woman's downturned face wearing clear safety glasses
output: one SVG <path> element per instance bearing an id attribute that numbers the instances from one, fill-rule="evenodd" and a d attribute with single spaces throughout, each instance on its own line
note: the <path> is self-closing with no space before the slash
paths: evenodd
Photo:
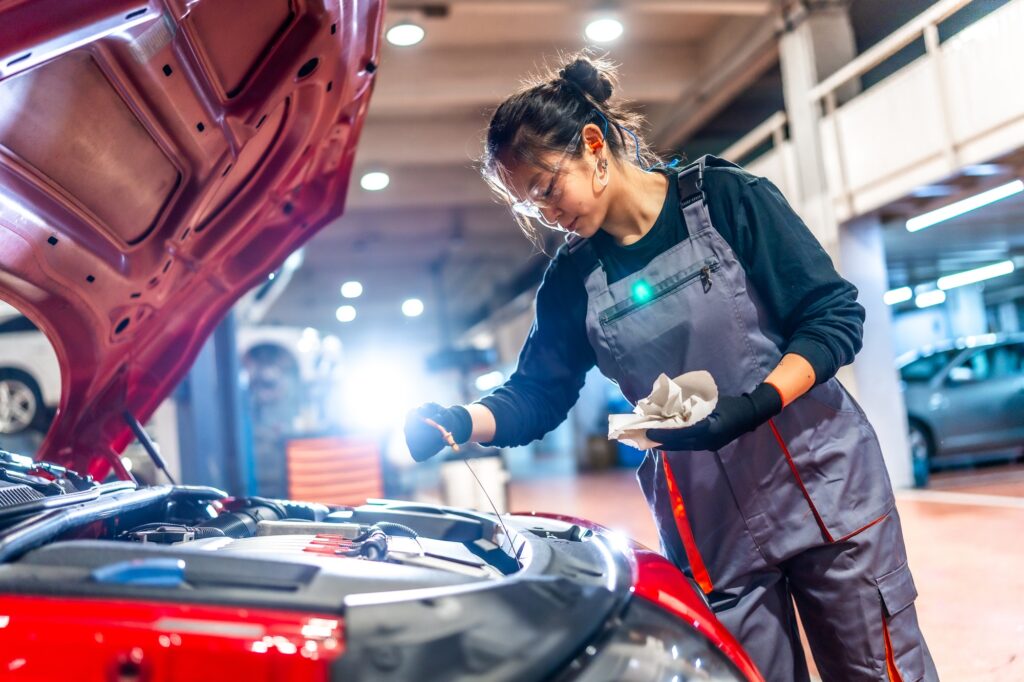
<path id="1" fill-rule="evenodd" d="M 580 144 L 578 140 L 573 146 Z M 608 154 L 604 148 L 595 153 L 586 144 L 582 155 L 574 156 L 574 151 L 542 155 L 552 170 L 528 164 L 511 168 L 511 189 L 520 212 L 537 217 L 539 211 L 548 227 L 588 238 L 600 229 L 607 213 L 606 187 L 598 179 L 606 180 L 608 169 L 599 171 L 598 163 Z"/>

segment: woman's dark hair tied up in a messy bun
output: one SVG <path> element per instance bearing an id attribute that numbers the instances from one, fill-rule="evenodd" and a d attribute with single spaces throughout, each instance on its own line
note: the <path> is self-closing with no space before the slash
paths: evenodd
<path id="1" fill-rule="evenodd" d="M 511 204 L 514 198 L 508 185 L 509 169 L 526 163 L 554 171 L 542 156 L 565 150 L 588 123 L 602 128 L 606 148 L 616 160 L 630 163 L 639 158 L 645 168 L 659 163 L 638 132 L 643 117 L 629 111 L 625 101 L 609 101 L 614 85 L 614 66 L 586 52 L 527 80 L 490 118 L 480 164 L 490 188 Z M 581 156 L 583 146 L 578 144 L 573 156 Z M 541 246 L 534 224 L 519 215 L 516 219 L 526 236 Z"/>

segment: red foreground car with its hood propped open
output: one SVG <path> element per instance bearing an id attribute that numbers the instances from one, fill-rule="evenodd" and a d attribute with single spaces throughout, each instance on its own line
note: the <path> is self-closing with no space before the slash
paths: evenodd
<path id="1" fill-rule="evenodd" d="M 62 387 L 35 459 L 0 452 L 4 679 L 761 679 L 683 573 L 586 521 L 230 497 L 159 465 L 140 424 L 342 213 L 383 16 L 0 3 L 0 299 Z M 168 482 L 132 477 L 134 440 Z"/>

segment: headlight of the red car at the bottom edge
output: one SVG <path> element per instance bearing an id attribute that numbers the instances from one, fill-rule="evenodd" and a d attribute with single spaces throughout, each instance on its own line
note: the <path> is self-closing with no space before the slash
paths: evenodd
<path id="1" fill-rule="evenodd" d="M 572 682 L 742 682 L 739 670 L 696 629 L 634 598 L 617 627 L 587 647 L 561 680 Z"/>

